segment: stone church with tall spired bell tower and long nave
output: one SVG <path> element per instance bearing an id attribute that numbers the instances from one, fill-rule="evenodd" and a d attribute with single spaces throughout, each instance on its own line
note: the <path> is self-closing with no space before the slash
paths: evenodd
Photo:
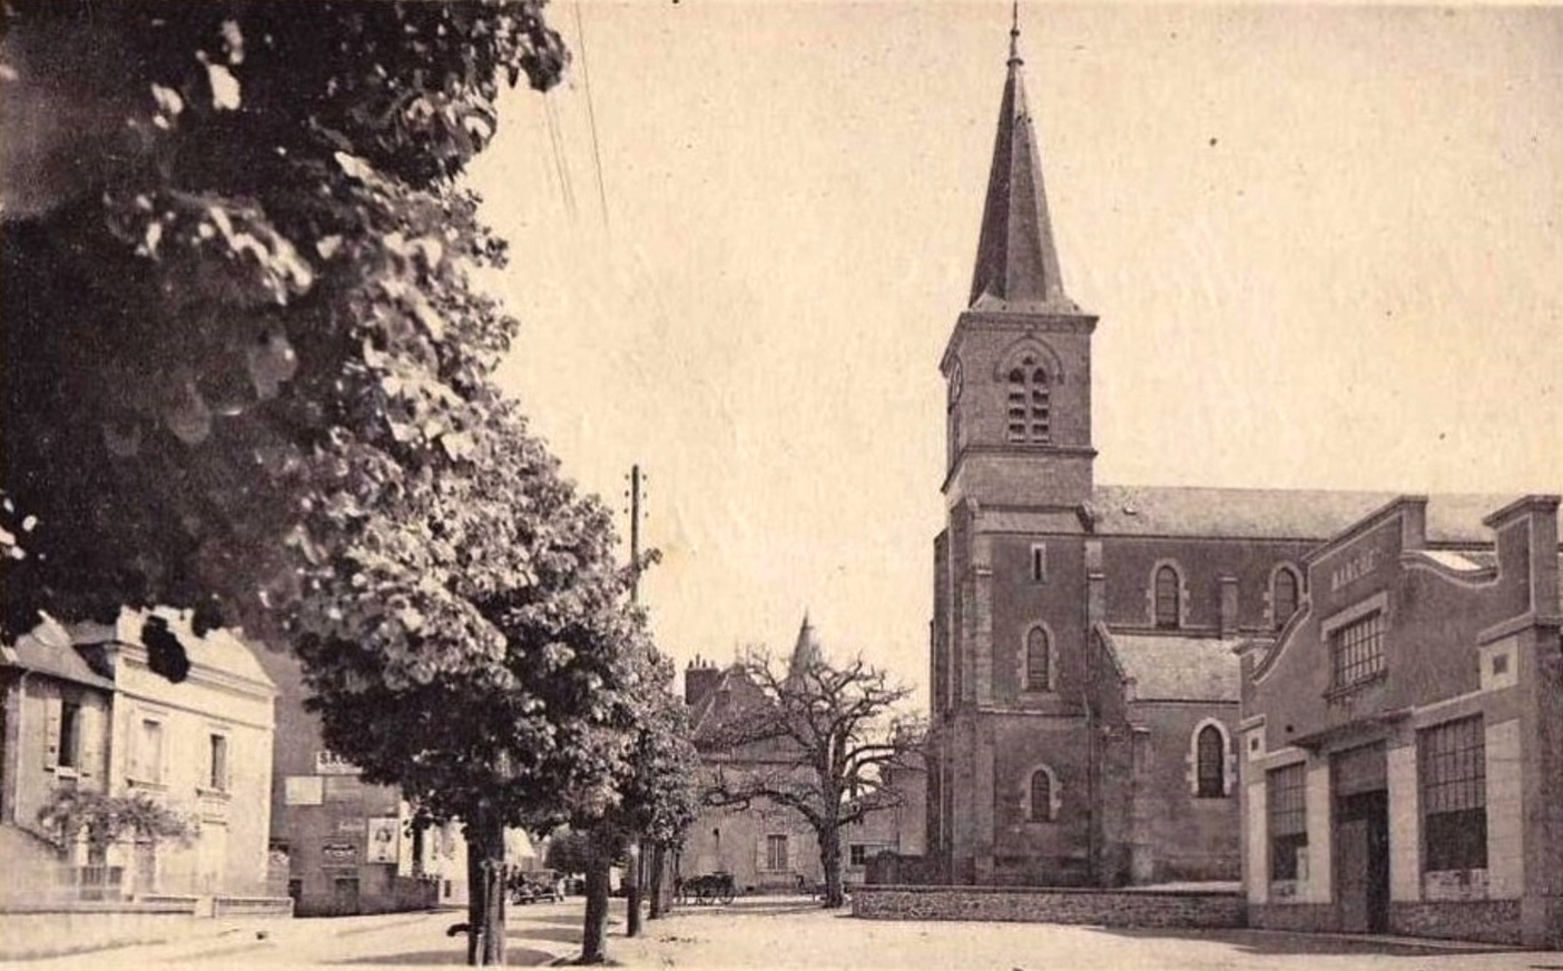
<path id="1" fill-rule="evenodd" d="M 1243 874 L 1236 651 L 1310 598 L 1310 551 L 1396 493 L 1105 486 L 1097 318 L 1064 289 L 1019 30 L 975 272 L 939 364 L 928 863 L 960 885 Z M 1432 496 L 1430 551 L 1513 496 Z"/>

